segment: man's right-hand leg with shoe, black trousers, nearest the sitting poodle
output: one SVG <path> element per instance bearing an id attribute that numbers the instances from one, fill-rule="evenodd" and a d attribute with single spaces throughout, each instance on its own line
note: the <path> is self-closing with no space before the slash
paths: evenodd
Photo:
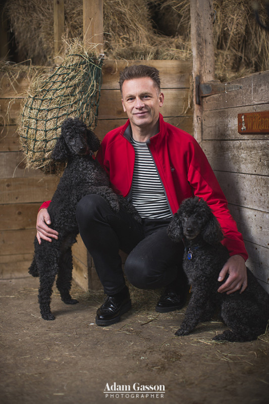
<path id="1" fill-rule="evenodd" d="M 159 313 L 181 309 L 186 302 L 188 282 L 182 269 L 184 246 L 167 235 L 168 221 L 144 222 L 145 238 L 129 254 L 125 274 L 140 289 L 164 288 L 155 310 Z"/>

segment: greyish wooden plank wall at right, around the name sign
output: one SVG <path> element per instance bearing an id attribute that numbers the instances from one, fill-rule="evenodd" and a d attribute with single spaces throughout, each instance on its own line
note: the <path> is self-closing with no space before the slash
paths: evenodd
<path id="1" fill-rule="evenodd" d="M 238 133 L 238 114 L 269 111 L 269 71 L 231 82 L 242 89 L 202 100 L 202 148 L 226 194 L 249 254 L 269 291 L 269 131 Z"/>

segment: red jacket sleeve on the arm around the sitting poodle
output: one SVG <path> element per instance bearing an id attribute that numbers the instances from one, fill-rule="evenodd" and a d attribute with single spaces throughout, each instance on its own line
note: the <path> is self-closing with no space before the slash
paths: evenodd
<path id="1" fill-rule="evenodd" d="M 199 144 L 194 141 L 191 148 L 188 181 L 193 193 L 206 200 L 218 219 L 224 233 L 223 244 L 228 248 L 230 255 L 238 254 L 247 260 L 248 254 L 242 234 L 238 231 L 236 222 L 230 214 L 227 199 L 219 182 Z"/>

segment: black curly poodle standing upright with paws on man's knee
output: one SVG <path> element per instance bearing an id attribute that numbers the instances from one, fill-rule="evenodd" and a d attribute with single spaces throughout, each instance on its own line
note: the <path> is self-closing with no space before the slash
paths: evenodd
<path id="1" fill-rule="evenodd" d="M 93 152 L 100 142 L 78 118 L 68 118 L 61 128 L 61 136 L 52 151 L 52 159 L 67 161 L 66 169 L 51 199 L 48 213 L 51 227 L 59 232 L 59 239 L 52 242 L 42 240 L 39 245 L 35 237 L 35 254 L 29 273 L 39 276 L 38 301 L 44 320 L 54 320 L 50 311 L 52 285 L 57 277 L 57 287 L 67 305 L 78 301 L 70 296 L 72 281 L 72 250 L 79 232 L 76 221 L 78 201 L 85 195 L 95 193 L 106 199 L 111 208 L 118 212 L 124 206 L 137 221 L 141 221 L 136 209 L 123 196 L 116 195 L 110 187 L 105 171 L 94 159 Z"/>

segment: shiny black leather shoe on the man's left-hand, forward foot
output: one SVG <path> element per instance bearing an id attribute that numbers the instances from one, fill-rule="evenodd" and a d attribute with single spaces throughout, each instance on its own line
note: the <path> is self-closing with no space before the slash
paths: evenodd
<path id="1" fill-rule="evenodd" d="M 96 312 L 95 323 L 100 326 L 118 323 L 121 315 L 128 312 L 131 306 L 127 287 L 113 296 L 106 296 L 102 306 Z"/>

